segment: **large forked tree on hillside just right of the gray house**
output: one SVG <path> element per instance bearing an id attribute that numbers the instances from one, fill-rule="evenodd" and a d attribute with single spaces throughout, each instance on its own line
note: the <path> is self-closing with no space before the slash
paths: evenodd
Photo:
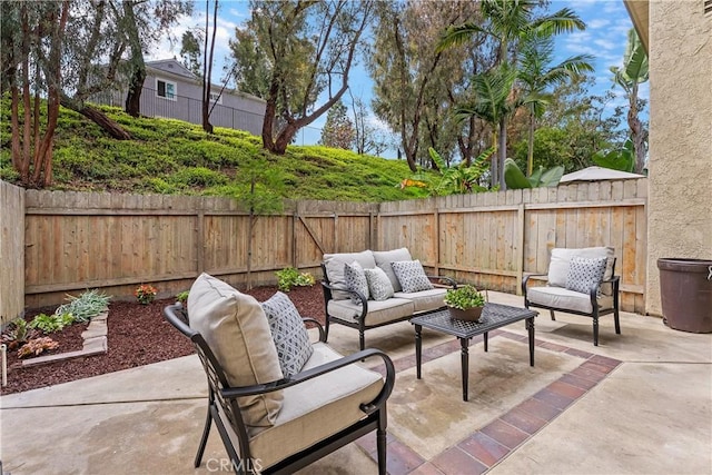
<path id="1" fill-rule="evenodd" d="M 265 149 L 284 154 L 344 96 L 373 8 L 370 0 L 250 1 L 230 49 L 238 88 L 267 101 Z"/>

